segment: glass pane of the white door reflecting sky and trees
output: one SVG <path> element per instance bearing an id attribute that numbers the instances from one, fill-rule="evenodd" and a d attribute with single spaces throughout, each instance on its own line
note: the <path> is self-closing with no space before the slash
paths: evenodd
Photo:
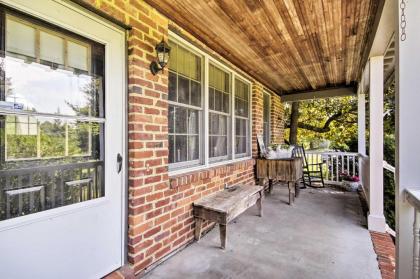
<path id="1" fill-rule="evenodd" d="M 104 46 L 3 17 L 0 221 L 103 197 Z"/>

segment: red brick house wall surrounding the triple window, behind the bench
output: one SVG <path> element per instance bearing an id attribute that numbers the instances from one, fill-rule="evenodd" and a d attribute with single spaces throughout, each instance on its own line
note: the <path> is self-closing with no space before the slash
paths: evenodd
<path id="1" fill-rule="evenodd" d="M 133 27 L 128 36 L 128 261 L 137 274 L 193 239 L 193 201 L 225 183 L 254 184 L 254 160 L 169 177 L 168 74 L 153 76 L 149 65 L 155 45 L 174 24 L 140 0 L 85 1 Z M 262 92 L 262 85 L 254 83 L 254 156 L 256 134 L 262 133 Z M 128 272 L 113 276 L 122 273 Z"/>

